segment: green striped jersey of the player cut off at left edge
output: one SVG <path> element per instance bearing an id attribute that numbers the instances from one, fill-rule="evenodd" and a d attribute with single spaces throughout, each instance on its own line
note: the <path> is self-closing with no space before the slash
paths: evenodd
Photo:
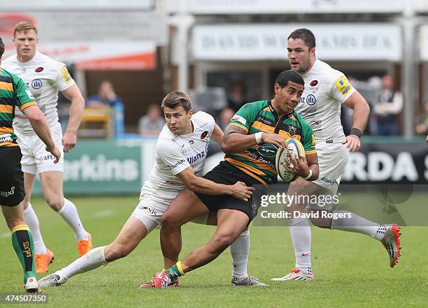
<path id="1" fill-rule="evenodd" d="M 15 106 L 22 111 L 32 105 L 37 103 L 22 79 L 0 68 L 0 147 L 17 145 L 12 126 Z"/>

